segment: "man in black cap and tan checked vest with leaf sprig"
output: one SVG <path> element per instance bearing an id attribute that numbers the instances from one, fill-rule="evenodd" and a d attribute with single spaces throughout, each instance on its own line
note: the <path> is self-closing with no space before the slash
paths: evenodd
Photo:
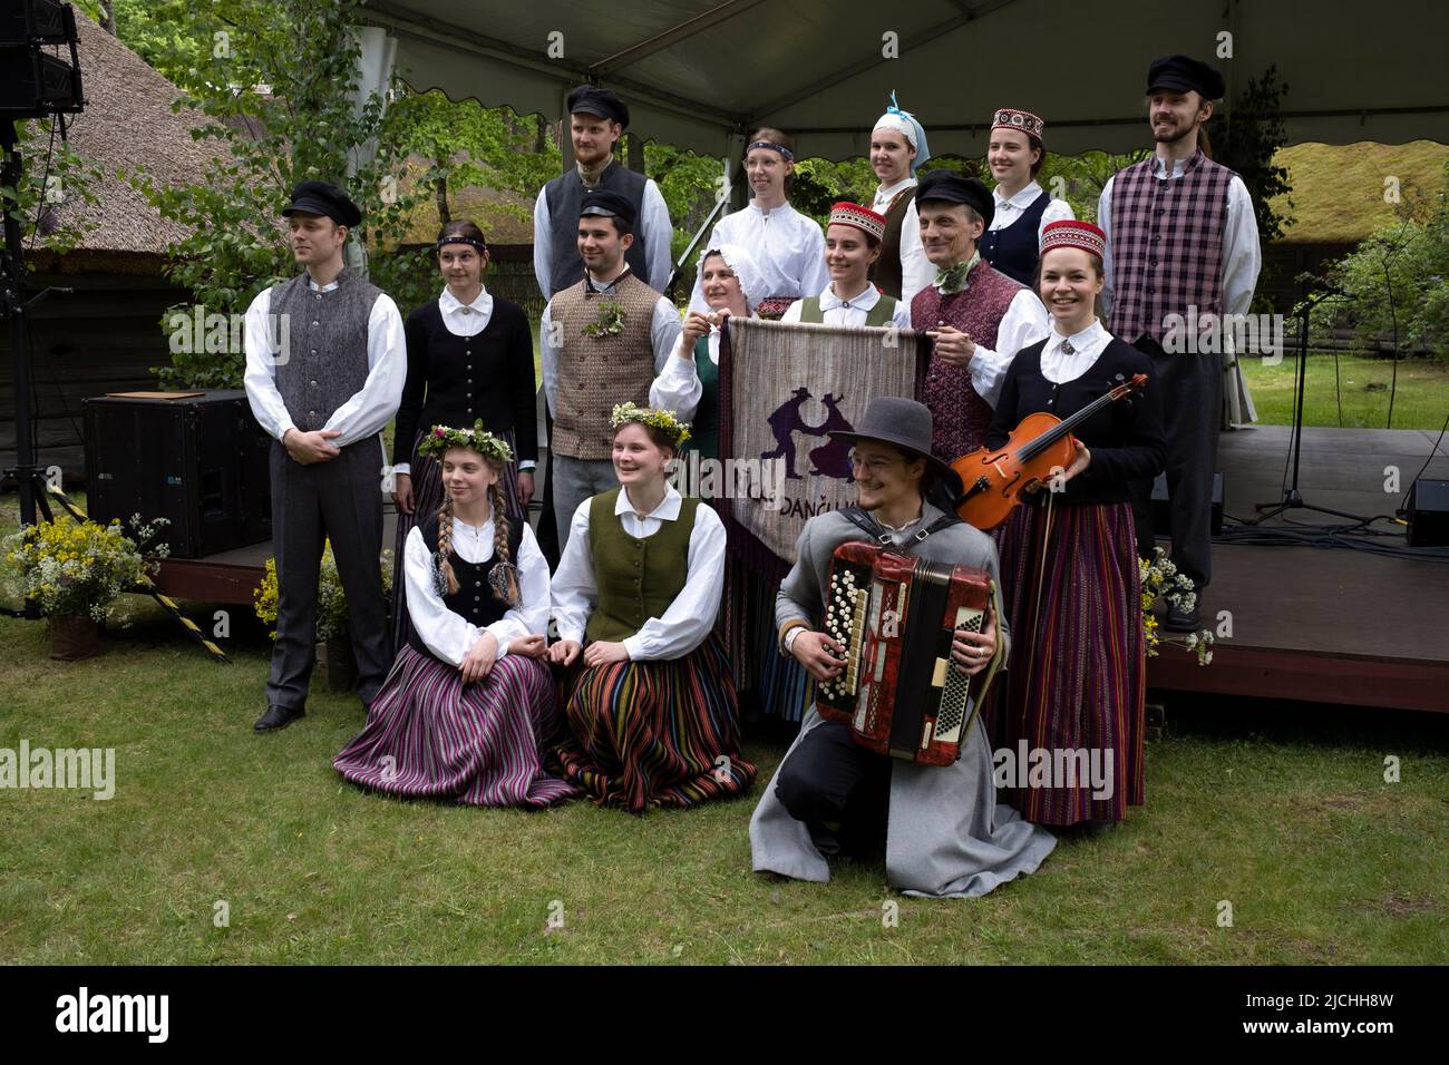
<path id="1" fill-rule="evenodd" d="M 543 393 L 554 416 L 549 477 L 559 549 L 578 504 L 614 487 L 609 412 L 645 404 L 680 339 L 674 304 L 635 275 L 635 206 L 610 188 L 584 193 L 578 254 L 584 280 L 554 294 L 539 326 Z"/>

